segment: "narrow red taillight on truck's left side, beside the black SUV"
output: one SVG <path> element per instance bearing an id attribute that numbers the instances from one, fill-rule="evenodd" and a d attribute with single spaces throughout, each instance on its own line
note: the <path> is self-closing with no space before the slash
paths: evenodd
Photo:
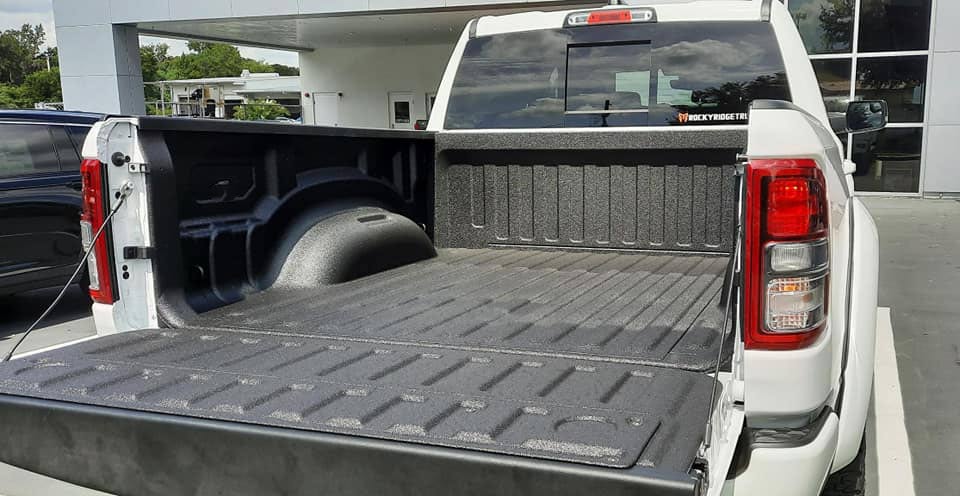
<path id="1" fill-rule="evenodd" d="M 97 159 L 84 159 L 80 164 L 80 177 L 83 180 L 83 211 L 80 214 L 80 231 L 84 248 L 89 246 L 93 235 L 103 224 L 106 216 L 103 176 Z M 107 233 L 100 235 L 87 258 L 87 270 L 90 274 L 90 296 L 97 303 L 113 303 L 113 282 L 110 273 L 110 252 Z"/>

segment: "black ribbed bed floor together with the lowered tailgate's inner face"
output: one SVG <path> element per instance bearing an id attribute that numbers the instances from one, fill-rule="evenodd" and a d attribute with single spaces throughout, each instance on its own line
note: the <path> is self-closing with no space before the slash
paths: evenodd
<path id="1" fill-rule="evenodd" d="M 0 392 L 686 473 L 726 257 L 448 249 L 0 367 Z M 715 355 L 714 355 L 715 356 Z"/>

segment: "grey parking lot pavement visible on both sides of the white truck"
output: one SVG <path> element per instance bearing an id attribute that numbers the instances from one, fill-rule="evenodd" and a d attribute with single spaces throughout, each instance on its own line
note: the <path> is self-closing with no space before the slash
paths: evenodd
<path id="1" fill-rule="evenodd" d="M 954 292 L 960 288 L 960 202 L 869 198 L 865 203 L 880 231 L 880 306 L 890 309 L 893 327 L 893 347 L 885 349 L 881 337 L 878 362 L 896 361 L 902 390 L 902 404 L 897 404 L 890 384 L 876 384 L 877 401 L 867 426 L 867 494 L 908 494 L 902 488 L 909 491 L 911 478 L 914 494 L 956 494 L 960 307 Z M 56 290 L 44 290 L 0 301 L 5 316 L 0 351 L 9 349 L 55 295 Z M 93 333 L 86 296 L 73 288 L 22 351 Z M 896 435 L 904 428 L 909 448 Z M 9 466 L 0 466 L 0 493 L 99 494 Z"/>

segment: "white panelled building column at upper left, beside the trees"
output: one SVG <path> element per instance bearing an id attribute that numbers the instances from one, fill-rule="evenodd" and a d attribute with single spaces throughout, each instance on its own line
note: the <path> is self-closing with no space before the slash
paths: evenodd
<path id="1" fill-rule="evenodd" d="M 64 108 L 142 115 L 137 28 L 113 25 L 109 4 L 107 0 L 53 2 Z"/>

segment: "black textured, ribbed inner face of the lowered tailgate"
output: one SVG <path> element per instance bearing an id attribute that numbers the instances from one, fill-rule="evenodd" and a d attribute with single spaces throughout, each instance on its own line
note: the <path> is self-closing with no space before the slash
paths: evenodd
<path id="1" fill-rule="evenodd" d="M 679 472 L 712 384 L 626 363 L 194 328 L 0 367 L 2 394 Z"/>

